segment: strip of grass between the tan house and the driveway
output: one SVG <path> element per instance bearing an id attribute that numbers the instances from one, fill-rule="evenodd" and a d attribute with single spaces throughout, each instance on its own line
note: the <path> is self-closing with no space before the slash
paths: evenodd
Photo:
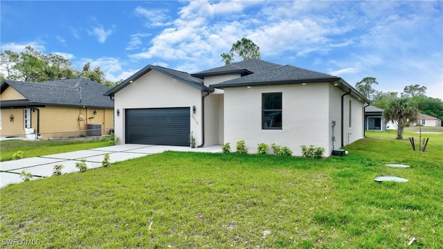
<path id="1" fill-rule="evenodd" d="M 12 160 L 17 151 L 24 151 L 24 157 L 30 158 L 105 146 L 109 146 L 109 140 L 4 140 L 0 142 L 0 161 Z"/>

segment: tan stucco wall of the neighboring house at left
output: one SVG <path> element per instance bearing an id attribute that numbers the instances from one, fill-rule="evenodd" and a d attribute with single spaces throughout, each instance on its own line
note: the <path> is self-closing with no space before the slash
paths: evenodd
<path id="1" fill-rule="evenodd" d="M 113 109 L 89 109 L 80 107 L 39 107 L 39 132 L 42 138 L 58 138 L 86 134 L 87 123 L 102 124 L 102 135 L 114 127 Z M 97 114 L 93 114 L 97 111 Z M 37 133 L 37 110 L 31 112 L 31 126 Z M 15 121 L 9 122 L 13 114 Z M 25 135 L 24 109 L 1 110 L 1 136 Z M 82 118 L 80 118 L 82 116 Z M 79 120 L 80 118 L 80 120 Z"/>

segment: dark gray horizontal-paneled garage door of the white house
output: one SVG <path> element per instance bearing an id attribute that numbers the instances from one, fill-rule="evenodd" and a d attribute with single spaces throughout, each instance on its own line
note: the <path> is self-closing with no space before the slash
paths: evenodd
<path id="1" fill-rule="evenodd" d="M 189 146 L 190 108 L 126 110 L 126 142 Z"/>

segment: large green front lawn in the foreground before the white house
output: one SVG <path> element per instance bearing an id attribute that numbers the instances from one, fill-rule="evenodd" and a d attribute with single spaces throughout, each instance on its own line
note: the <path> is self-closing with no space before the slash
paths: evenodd
<path id="1" fill-rule="evenodd" d="M 443 135 L 424 153 L 395 133 L 367 135 L 346 147 L 347 156 L 325 160 L 165 152 L 9 185 L 0 190 L 0 241 L 32 239 L 40 248 L 439 248 Z M 374 182 L 387 175 L 410 181 Z"/>

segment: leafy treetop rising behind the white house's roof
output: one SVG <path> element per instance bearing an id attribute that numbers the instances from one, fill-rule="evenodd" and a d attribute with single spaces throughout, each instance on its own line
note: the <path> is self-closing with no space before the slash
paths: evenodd
<path id="1" fill-rule="evenodd" d="M 221 59 L 228 65 L 234 62 L 235 57 L 241 57 L 245 59 L 260 59 L 260 47 L 257 46 L 250 39 L 242 38 L 241 40 L 235 42 L 232 48 L 230 48 L 229 53 L 222 53 Z"/>

